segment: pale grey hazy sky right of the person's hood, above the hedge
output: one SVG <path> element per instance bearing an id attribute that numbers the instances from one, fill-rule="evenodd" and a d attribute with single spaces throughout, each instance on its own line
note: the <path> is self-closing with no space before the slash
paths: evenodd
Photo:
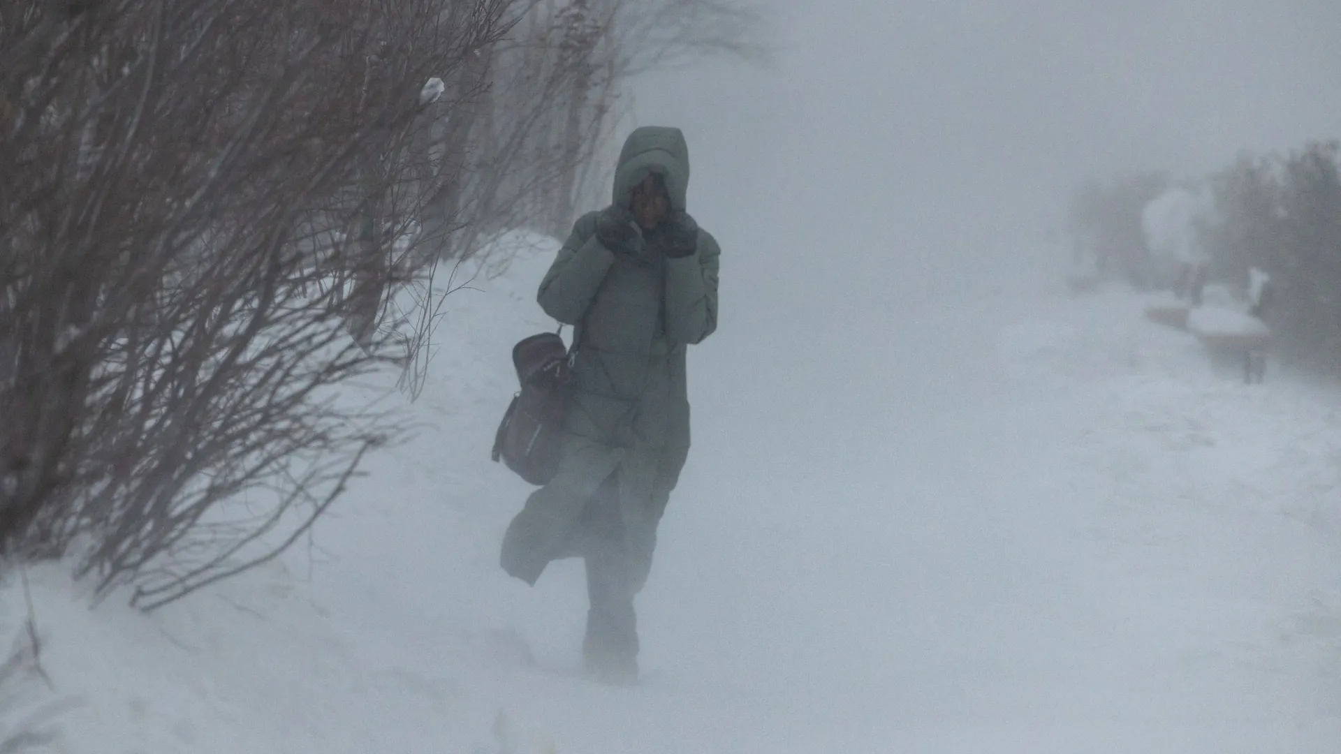
<path id="1" fill-rule="evenodd" d="M 704 66 L 638 89 L 638 122 L 687 129 L 700 212 L 732 197 L 738 213 L 809 208 L 945 243 L 947 213 L 959 237 L 999 236 L 1027 212 L 1051 221 L 1084 176 L 1196 174 L 1341 133 L 1333 0 L 768 7 L 776 70 Z"/>

